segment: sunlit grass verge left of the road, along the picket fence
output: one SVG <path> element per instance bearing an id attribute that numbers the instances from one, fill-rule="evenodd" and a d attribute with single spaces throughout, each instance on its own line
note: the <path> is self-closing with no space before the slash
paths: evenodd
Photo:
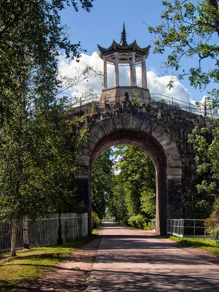
<path id="1" fill-rule="evenodd" d="M 16 257 L 0 256 L 0 291 L 19 291 L 22 282 L 43 277 L 50 273 L 54 266 L 69 257 L 71 251 L 77 250 L 96 236 L 82 240 L 64 242 L 62 245 L 36 247 L 30 250 L 17 251 Z"/>

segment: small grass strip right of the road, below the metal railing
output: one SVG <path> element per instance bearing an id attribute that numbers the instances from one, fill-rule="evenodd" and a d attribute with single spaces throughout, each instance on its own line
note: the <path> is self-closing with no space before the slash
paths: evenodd
<path id="1" fill-rule="evenodd" d="M 216 243 L 214 239 L 206 238 L 182 238 L 171 236 L 169 239 L 179 242 L 180 244 L 187 247 L 196 247 L 205 250 L 208 253 L 212 253 L 219 256 L 219 243 Z"/>

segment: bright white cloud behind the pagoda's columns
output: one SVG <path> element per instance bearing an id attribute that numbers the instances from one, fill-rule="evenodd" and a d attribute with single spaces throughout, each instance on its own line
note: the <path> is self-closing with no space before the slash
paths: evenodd
<path id="1" fill-rule="evenodd" d="M 82 54 L 80 62 L 77 63 L 75 60 L 69 60 L 62 56 L 59 60 L 59 70 L 62 75 L 67 75 L 68 77 L 74 77 L 77 75 L 78 70 L 83 70 L 87 65 L 93 66 L 94 70 L 103 72 L 103 60 L 99 57 L 97 52 L 94 52 L 91 56 Z M 114 86 L 114 66 L 107 66 L 108 70 L 108 87 Z M 129 86 L 130 71 L 129 66 L 119 67 L 119 79 L 121 86 Z M 141 67 L 136 67 L 136 76 L 137 76 L 137 85 L 141 86 Z M 158 74 L 155 70 L 150 70 L 147 72 L 147 87 L 151 93 L 151 97 L 155 96 L 152 93 L 159 93 L 166 96 L 173 97 L 175 99 L 191 102 L 191 94 L 184 88 L 183 84 L 179 80 L 175 79 L 174 87 L 172 89 L 166 88 L 166 84 L 172 76 L 163 76 L 158 77 Z M 174 77 L 175 78 L 175 77 Z M 101 93 L 102 91 L 102 82 L 96 77 L 89 79 L 89 82 L 79 83 L 76 87 L 71 89 L 70 94 L 80 95 L 81 92 L 86 90 L 86 87 L 89 86 L 94 93 Z M 158 95 L 159 96 L 159 95 Z M 162 96 L 160 96 L 162 98 Z M 165 98 L 165 97 L 164 97 Z"/>

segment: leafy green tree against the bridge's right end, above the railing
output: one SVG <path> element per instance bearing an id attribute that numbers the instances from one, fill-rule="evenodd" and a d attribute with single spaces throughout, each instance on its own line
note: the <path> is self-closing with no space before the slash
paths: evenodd
<path id="1" fill-rule="evenodd" d="M 193 199 L 197 216 L 208 218 L 219 206 L 219 120 L 214 120 L 214 129 L 196 127 L 188 135 L 188 142 L 197 151 L 199 197 Z M 214 204 L 214 206 L 213 206 Z M 218 211 L 216 212 L 218 213 Z"/>

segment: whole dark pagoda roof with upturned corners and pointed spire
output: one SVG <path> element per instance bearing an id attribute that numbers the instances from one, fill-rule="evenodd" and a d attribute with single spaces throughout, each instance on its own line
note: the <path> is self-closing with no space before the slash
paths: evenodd
<path id="1" fill-rule="evenodd" d="M 119 65 L 126 64 L 131 62 L 131 52 L 135 52 L 135 62 L 138 63 L 141 61 L 141 58 L 143 55 L 148 55 L 150 45 L 146 48 L 140 48 L 134 40 L 131 44 L 127 43 L 126 40 L 126 30 L 125 25 L 123 23 L 123 30 L 121 33 L 121 41 L 120 44 L 118 44 L 115 40 L 112 41 L 112 44 L 109 48 L 103 48 L 100 45 L 97 45 L 99 49 L 99 56 L 103 59 L 103 56 L 107 56 L 107 62 L 108 63 L 114 63 L 115 57 L 114 53 L 118 52 L 118 61 Z"/>

